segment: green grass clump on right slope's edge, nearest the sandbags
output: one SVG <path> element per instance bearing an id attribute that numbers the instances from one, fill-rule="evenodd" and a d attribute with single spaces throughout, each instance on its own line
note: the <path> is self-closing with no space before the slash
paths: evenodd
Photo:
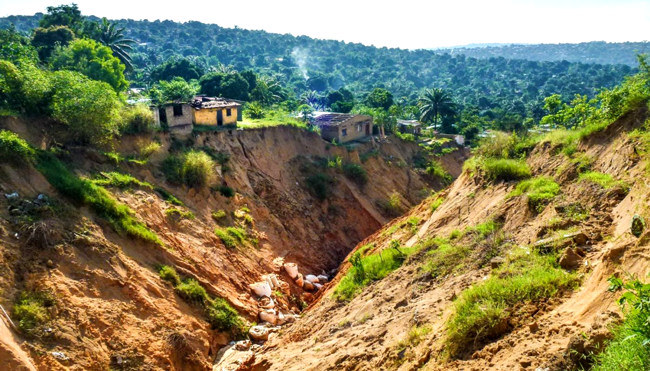
<path id="1" fill-rule="evenodd" d="M 356 252 L 351 258 L 352 267 L 334 290 L 334 299 L 350 301 L 372 281 L 380 280 L 399 268 L 414 248 L 403 248 L 399 242 L 391 241 L 391 247 L 377 254 L 362 257 Z"/>

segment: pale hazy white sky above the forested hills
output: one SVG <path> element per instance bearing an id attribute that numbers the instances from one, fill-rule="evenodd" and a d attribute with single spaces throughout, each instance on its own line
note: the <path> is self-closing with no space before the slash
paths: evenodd
<path id="1" fill-rule="evenodd" d="M 200 21 L 367 45 L 650 40 L 650 0 L 76 0 L 85 15 Z M 61 0 L 0 0 L 0 16 Z"/>

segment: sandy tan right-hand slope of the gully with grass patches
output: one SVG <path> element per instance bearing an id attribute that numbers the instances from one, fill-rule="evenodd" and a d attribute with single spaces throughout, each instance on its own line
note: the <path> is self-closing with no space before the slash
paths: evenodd
<path id="1" fill-rule="evenodd" d="M 531 206 L 526 195 L 509 196 L 515 181 L 463 173 L 444 192 L 442 204 L 423 202 L 355 250 L 387 254 L 393 240 L 402 249 L 418 246 L 401 268 L 371 282 L 351 301 L 338 302 L 332 298 L 336 285 L 352 269 L 343 264 L 304 317 L 265 344 L 252 369 L 588 365 L 590 352 L 602 349 L 608 325 L 619 318 L 618 294 L 608 292 L 607 279 L 648 273 L 649 232 L 641 238 L 630 233 L 632 217 L 647 220 L 649 214 L 648 163 L 639 155 L 640 139 L 629 135 L 647 117 L 645 108 L 626 114 L 588 136 L 576 151 L 565 151 L 569 156 L 550 142 L 539 143 L 527 163 L 533 177 L 554 178 L 559 185 L 547 205 Z M 547 268 L 534 276 L 538 266 Z M 481 304 L 490 301 L 476 288 L 506 299 L 496 306 Z M 526 289 L 527 296 L 508 301 Z M 462 303 L 469 303 L 462 307 L 464 322 L 458 312 Z M 475 303 L 470 318 L 468 308 Z"/>

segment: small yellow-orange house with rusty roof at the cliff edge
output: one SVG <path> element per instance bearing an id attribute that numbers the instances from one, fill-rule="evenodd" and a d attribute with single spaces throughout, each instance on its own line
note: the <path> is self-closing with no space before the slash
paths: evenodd
<path id="1" fill-rule="evenodd" d="M 241 104 L 231 99 L 197 96 L 192 108 L 195 125 L 237 125 L 241 120 Z"/>

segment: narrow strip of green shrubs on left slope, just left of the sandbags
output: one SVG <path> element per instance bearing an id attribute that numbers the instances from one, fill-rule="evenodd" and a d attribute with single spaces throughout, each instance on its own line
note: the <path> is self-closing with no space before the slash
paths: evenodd
<path id="1" fill-rule="evenodd" d="M 231 331 L 243 335 L 246 331 L 244 320 L 239 313 L 223 298 L 212 298 L 201 284 L 192 278 L 181 280 L 173 267 L 163 265 L 158 274 L 164 281 L 170 282 L 178 295 L 186 301 L 201 305 L 205 309 L 207 321 L 212 328 L 219 331 Z"/>

